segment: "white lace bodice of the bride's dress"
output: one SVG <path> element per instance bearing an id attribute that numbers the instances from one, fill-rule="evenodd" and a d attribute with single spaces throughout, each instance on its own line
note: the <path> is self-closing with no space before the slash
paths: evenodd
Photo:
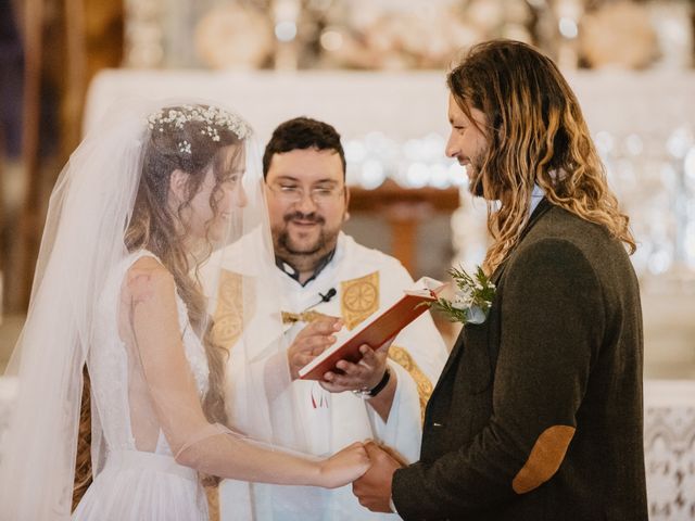
<path id="1" fill-rule="evenodd" d="M 118 315 L 124 278 L 132 264 L 142 256 L 152 253 L 140 251 L 126 257 L 114 269 L 104 285 L 99 300 L 92 334 L 91 351 L 88 356 L 88 369 L 91 378 L 92 422 L 101 425 L 106 450 L 138 449 L 134 437 L 131 410 L 134 404 L 149 404 L 143 394 L 147 389 L 134 383 L 132 372 L 138 371 L 137 360 L 129 359 L 126 342 L 118 332 Z M 207 391 L 208 368 L 204 348 L 190 326 L 184 301 L 176 295 L 178 321 L 186 351 L 186 358 L 195 379 L 201 397 Z M 134 358 L 134 357 L 130 357 Z M 152 415 L 150 415 L 152 416 Z M 152 418 L 152 421 L 156 421 Z M 92 429 L 93 430 L 93 429 Z M 159 431 L 156 454 L 170 455 L 162 431 Z"/>

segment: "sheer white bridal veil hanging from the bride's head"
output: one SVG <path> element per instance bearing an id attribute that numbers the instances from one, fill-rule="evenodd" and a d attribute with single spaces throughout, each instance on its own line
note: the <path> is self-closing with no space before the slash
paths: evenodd
<path id="1" fill-rule="evenodd" d="M 219 106 L 195 106 L 207 104 Z M 89 368 L 93 350 L 96 309 L 110 275 L 131 253 L 124 233 L 132 218 L 144 148 L 151 134 L 161 131 L 148 116 L 166 118 L 166 110 L 163 116 L 157 112 L 165 106 L 188 105 L 178 100 L 128 100 L 110 110 L 72 154 L 54 187 L 26 322 L 5 372 L 16 381 L 17 393 L 0 459 L 2 520 L 71 516 L 83 368 L 85 364 Z M 250 130 L 231 111 L 213 117 L 226 117 L 225 125 Z M 214 125 L 210 130 L 208 138 L 214 140 Z M 225 240 L 216 247 L 238 246 L 210 252 L 204 262 L 191 263 L 190 276 L 198 278 L 204 271 L 211 315 L 225 309 L 212 317 L 213 336 L 229 348 L 244 350 L 250 364 L 266 364 L 262 371 L 245 373 L 249 392 L 228 404 L 240 418 L 239 429 L 270 446 L 301 448 L 301 425 L 287 412 L 293 410 L 292 393 L 280 310 L 274 308 L 279 292 L 270 276 L 275 265 L 261 161 L 251 135 L 244 130 L 240 136 L 245 205 L 231 212 Z M 185 151 L 190 143 L 181 141 L 179 147 Z M 225 258 L 228 254 L 223 252 L 235 252 L 235 258 Z M 223 279 L 226 283 L 220 285 Z M 258 316 L 266 318 L 258 320 Z M 100 422 L 104 411 L 97 403 L 92 399 L 94 475 L 106 457 Z"/>

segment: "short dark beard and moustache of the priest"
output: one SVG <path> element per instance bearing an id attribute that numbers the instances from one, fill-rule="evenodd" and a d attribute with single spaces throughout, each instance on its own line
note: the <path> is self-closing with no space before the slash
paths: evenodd
<path id="1" fill-rule="evenodd" d="M 311 220 L 318 225 L 320 230 L 316 240 L 308 244 L 296 242 L 289 231 L 292 219 Z M 293 212 L 283 217 L 281 227 L 274 227 L 271 231 L 275 254 L 298 271 L 304 272 L 313 271 L 319 260 L 336 247 L 340 226 L 326 228 L 326 219 L 315 212 Z"/>

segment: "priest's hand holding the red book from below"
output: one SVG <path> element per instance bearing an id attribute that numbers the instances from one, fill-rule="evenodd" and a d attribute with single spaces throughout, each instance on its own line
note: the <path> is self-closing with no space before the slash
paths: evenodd
<path id="1" fill-rule="evenodd" d="M 362 359 L 357 364 L 340 360 L 336 367 L 343 374 L 328 371 L 319 382 L 321 387 L 331 393 L 374 389 L 387 370 L 387 357 L 393 339 L 390 339 L 377 350 L 372 350 L 367 344 L 361 346 Z"/>

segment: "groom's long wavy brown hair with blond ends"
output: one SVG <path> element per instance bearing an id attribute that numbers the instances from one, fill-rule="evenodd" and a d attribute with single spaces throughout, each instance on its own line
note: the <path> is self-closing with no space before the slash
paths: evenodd
<path id="1" fill-rule="evenodd" d="M 471 187 L 488 201 L 488 274 L 519 241 L 534 185 L 551 203 L 603 225 L 635 251 L 629 217 L 608 188 L 579 102 L 551 59 L 526 43 L 492 40 L 473 46 L 446 84 L 488 139 Z M 484 113 L 486 126 L 476 123 L 471 107 Z"/>

